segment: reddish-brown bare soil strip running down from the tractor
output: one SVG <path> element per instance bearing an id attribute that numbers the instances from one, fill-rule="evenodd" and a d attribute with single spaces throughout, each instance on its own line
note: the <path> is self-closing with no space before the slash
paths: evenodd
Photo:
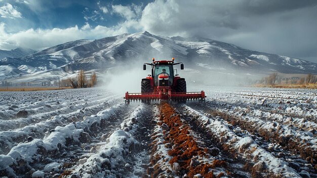
<path id="1" fill-rule="evenodd" d="M 174 144 L 168 152 L 172 156 L 171 166 L 177 162 L 182 168 L 181 172 L 187 173 L 189 177 L 193 177 L 197 173 L 202 174 L 203 177 L 216 177 L 212 171 L 213 168 L 224 167 L 226 165 L 225 161 L 215 160 L 212 164 L 202 163 L 197 166 L 190 166 L 191 159 L 197 156 L 206 159 L 211 157 L 206 153 L 207 148 L 202 148 L 195 138 L 190 135 L 190 126 L 181 121 L 181 116 L 175 112 L 170 104 L 162 104 L 160 110 L 162 112 L 160 119 L 170 128 L 169 136 L 165 139 L 167 142 Z M 226 173 L 219 175 L 226 175 Z"/>

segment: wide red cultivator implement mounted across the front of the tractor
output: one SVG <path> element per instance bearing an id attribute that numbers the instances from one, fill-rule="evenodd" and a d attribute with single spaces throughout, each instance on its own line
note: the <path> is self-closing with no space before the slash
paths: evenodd
<path id="1" fill-rule="evenodd" d="M 126 92 L 126 103 L 130 101 L 154 102 L 161 100 L 184 102 L 191 100 L 205 101 L 205 92 L 163 92 L 159 90 L 156 93 L 129 93 Z"/>

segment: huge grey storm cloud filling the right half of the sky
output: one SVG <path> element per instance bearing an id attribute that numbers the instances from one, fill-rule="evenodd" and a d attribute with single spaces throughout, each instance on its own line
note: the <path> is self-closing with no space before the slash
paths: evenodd
<path id="1" fill-rule="evenodd" d="M 141 24 L 162 35 L 207 37 L 247 49 L 317 62 L 317 1 L 162 1 Z"/>

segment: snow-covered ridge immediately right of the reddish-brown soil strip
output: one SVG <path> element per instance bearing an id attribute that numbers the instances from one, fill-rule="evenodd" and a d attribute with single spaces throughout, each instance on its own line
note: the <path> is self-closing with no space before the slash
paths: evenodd
<path id="1" fill-rule="evenodd" d="M 266 152 L 251 137 L 236 135 L 221 117 L 207 117 L 189 106 L 186 110 L 196 115 L 201 126 L 212 132 L 227 152 L 247 162 L 244 168 L 252 171 L 252 177 L 300 177 L 285 161 Z"/>

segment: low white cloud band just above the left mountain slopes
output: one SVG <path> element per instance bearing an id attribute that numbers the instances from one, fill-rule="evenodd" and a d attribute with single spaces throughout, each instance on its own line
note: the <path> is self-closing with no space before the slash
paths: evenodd
<path id="1" fill-rule="evenodd" d="M 5 23 L 0 23 L 0 49 L 10 50 L 17 47 L 43 50 L 62 43 L 78 39 L 100 39 L 122 33 L 128 33 L 129 25 L 122 24 L 113 27 L 98 25 L 92 28 L 86 23 L 82 28 L 77 25 L 65 29 L 27 29 L 17 33 L 8 33 Z"/>

